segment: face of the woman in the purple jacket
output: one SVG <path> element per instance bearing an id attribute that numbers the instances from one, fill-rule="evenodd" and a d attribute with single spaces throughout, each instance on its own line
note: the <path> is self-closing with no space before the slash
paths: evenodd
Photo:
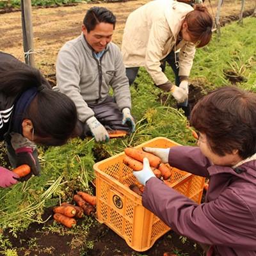
<path id="1" fill-rule="evenodd" d="M 209 143 L 207 142 L 207 136 L 202 132 L 199 132 L 197 145 L 200 147 L 202 154 L 204 154 L 204 156 L 207 157 L 212 164 L 220 166 L 234 166 L 243 160 L 239 156 L 238 150 L 233 150 L 232 154 L 225 154 L 225 156 L 219 156 L 212 152 Z"/>

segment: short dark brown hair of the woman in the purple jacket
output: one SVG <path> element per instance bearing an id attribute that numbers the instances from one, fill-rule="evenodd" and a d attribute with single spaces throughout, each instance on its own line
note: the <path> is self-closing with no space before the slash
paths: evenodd
<path id="1" fill-rule="evenodd" d="M 243 159 L 256 152 L 256 94 L 235 86 L 216 89 L 200 99 L 190 123 L 207 136 L 218 156 L 238 150 Z"/>

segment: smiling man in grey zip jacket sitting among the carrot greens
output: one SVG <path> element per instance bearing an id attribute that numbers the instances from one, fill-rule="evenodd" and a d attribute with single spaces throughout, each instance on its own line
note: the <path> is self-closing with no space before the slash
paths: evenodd
<path id="1" fill-rule="evenodd" d="M 108 141 L 109 130 L 133 132 L 131 93 L 122 54 L 111 42 L 116 17 L 93 6 L 86 13 L 82 33 L 61 48 L 56 63 L 56 89 L 74 100 L 80 137 L 92 134 Z M 113 97 L 109 95 L 113 88 Z"/>

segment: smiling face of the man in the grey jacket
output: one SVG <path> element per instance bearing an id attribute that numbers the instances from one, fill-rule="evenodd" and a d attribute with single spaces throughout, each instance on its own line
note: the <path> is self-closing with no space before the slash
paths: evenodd
<path id="1" fill-rule="evenodd" d="M 97 53 L 103 51 L 108 43 L 111 42 L 114 26 L 110 23 L 100 22 L 90 32 L 83 25 L 82 31 L 88 44 Z"/>

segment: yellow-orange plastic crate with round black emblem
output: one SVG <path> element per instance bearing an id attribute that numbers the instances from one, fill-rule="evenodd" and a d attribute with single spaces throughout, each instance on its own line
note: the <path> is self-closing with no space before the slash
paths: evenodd
<path id="1" fill-rule="evenodd" d="M 136 148 L 168 148 L 179 145 L 172 140 L 157 137 Z M 143 207 L 141 196 L 127 185 L 138 184 L 132 169 L 123 163 L 124 152 L 93 165 L 96 175 L 97 220 L 105 223 L 138 252 L 148 250 L 170 227 Z M 172 168 L 172 185 L 183 195 L 200 204 L 205 179 Z M 126 185 L 126 186 L 125 186 Z"/>

